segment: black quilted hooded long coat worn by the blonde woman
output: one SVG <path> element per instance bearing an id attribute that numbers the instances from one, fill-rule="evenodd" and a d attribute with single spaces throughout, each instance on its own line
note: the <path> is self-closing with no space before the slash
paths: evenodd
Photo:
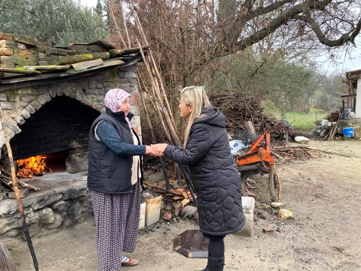
<path id="1" fill-rule="evenodd" d="M 202 233 L 222 236 L 243 227 L 240 176 L 234 163 L 224 116 L 216 108 L 202 111 L 191 127 L 186 151 L 168 146 L 164 155 L 187 165 L 196 190 Z"/>

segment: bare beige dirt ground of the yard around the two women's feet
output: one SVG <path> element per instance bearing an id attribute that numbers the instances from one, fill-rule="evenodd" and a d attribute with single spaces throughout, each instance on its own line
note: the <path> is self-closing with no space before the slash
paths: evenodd
<path id="1" fill-rule="evenodd" d="M 225 238 L 224 270 L 361 270 L 360 194 L 361 141 L 312 141 L 310 146 L 352 155 L 320 154 L 304 160 L 278 164 L 282 182 L 282 203 L 295 220 L 280 220 L 263 210 L 255 218 L 253 237 Z M 314 155 L 316 156 L 316 155 Z M 266 176 L 253 177 L 259 201 L 266 201 Z M 265 234 L 264 226 L 278 226 L 282 232 Z M 203 269 L 205 259 L 188 259 L 173 251 L 174 236 L 196 229 L 194 221 L 158 224 L 139 235 L 132 257 L 139 265 L 132 271 L 192 271 Z M 92 218 L 52 236 L 34 239 L 42 271 L 96 270 L 95 226 Z M 34 270 L 27 247 L 14 252 L 19 270 Z"/>

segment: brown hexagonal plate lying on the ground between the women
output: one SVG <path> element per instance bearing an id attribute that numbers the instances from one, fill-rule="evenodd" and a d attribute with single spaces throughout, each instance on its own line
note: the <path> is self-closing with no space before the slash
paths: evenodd
<path id="1" fill-rule="evenodd" d="M 187 230 L 174 237 L 174 250 L 188 258 L 208 258 L 209 239 L 199 230 Z"/>

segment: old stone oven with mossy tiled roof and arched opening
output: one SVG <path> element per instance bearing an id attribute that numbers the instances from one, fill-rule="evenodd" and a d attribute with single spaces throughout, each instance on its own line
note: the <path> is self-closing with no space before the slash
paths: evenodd
<path id="1" fill-rule="evenodd" d="M 141 59 L 137 48 L 116 50 L 101 41 L 52 47 L 0 33 L 0 103 L 14 160 L 46 157 L 51 170 L 23 179 L 42 189 L 22 199 L 31 235 L 69 227 L 92 212 L 86 188 L 89 129 L 109 89 L 132 94 L 132 125 L 141 138 L 136 74 Z M 2 132 L 1 146 L 0 167 L 8 169 Z M 0 239 L 11 248 L 21 240 L 21 223 L 16 200 L 4 192 Z"/>

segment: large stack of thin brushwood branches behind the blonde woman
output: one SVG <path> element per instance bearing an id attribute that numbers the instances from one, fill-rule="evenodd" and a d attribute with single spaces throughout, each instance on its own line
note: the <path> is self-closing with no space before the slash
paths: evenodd
<path id="1" fill-rule="evenodd" d="M 209 98 L 213 106 L 219 108 L 225 116 L 230 132 L 236 128 L 247 131 L 247 121 L 251 121 L 256 134 L 270 131 L 272 137 L 292 135 L 289 126 L 264 112 L 256 95 L 227 91 L 210 93 Z"/>

